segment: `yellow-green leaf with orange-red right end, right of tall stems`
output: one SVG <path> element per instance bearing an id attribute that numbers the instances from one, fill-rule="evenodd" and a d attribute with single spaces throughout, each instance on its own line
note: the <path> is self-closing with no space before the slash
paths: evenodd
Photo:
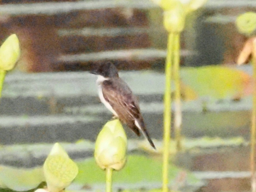
<path id="1" fill-rule="evenodd" d="M 252 92 L 251 76 L 228 67 L 182 68 L 181 81 L 201 97 L 233 99 L 249 95 Z"/>

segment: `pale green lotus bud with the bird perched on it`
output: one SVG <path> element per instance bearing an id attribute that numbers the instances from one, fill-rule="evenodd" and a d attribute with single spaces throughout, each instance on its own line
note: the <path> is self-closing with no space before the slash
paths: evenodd
<path id="1" fill-rule="evenodd" d="M 121 122 L 108 121 L 95 142 L 95 161 L 101 169 L 120 170 L 126 162 L 127 137 Z"/>

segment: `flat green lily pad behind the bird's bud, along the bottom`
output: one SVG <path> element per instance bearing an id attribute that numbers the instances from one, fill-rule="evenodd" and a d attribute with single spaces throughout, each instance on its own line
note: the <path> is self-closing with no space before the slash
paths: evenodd
<path id="1" fill-rule="evenodd" d="M 93 158 L 78 162 L 79 172 L 74 180 L 75 184 L 104 184 L 105 171 L 101 170 Z M 174 165 L 169 167 L 170 183 L 175 180 L 182 171 Z M 89 173 L 89 174 L 88 174 Z M 150 182 L 161 183 L 162 163 L 150 157 L 142 155 L 130 155 L 125 167 L 120 171 L 113 172 L 114 184 L 147 184 Z M 199 180 L 193 174 L 187 174 L 188 183 L 197 183 Z"/>

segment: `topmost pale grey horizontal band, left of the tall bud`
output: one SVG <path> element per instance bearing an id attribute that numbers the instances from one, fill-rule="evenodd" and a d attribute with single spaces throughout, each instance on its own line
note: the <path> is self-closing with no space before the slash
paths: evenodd
<path id="1" fill-rule="evenodd" d="M 148 0 L 136 1 L 136 0 L 85 0 L 85 1 L 73 1 L 73 2 L 42 2 L 42 3 L 28 3 L 28 4 L 5 4 L 0 6 L 0 11 L 3 15 L 56 15 L 59 13 L 68 13 L 79 10 L 92 10 L 92 9 L 104 9 L 104 8 L 140 8 L 148 9 L 157 7 L 154 3 Z"/>

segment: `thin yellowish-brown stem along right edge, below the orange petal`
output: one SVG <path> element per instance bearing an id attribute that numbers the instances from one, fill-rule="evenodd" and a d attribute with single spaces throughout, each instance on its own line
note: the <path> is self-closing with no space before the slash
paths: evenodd
<path id="1" fill-rule="evenodd" d="M 253 65 L 253 80 L 256 80 L 256 55 L 252 59 Z M 255 178 L 255 136 L 256 136 L 256 88 L 253 88 L 252 96 L 252 114 L 251 114 L 251 156 L 250 156 L 250 167 L 251 167 L 251 185 L 252 192 L 256 191 L 256 178 Z"/>

